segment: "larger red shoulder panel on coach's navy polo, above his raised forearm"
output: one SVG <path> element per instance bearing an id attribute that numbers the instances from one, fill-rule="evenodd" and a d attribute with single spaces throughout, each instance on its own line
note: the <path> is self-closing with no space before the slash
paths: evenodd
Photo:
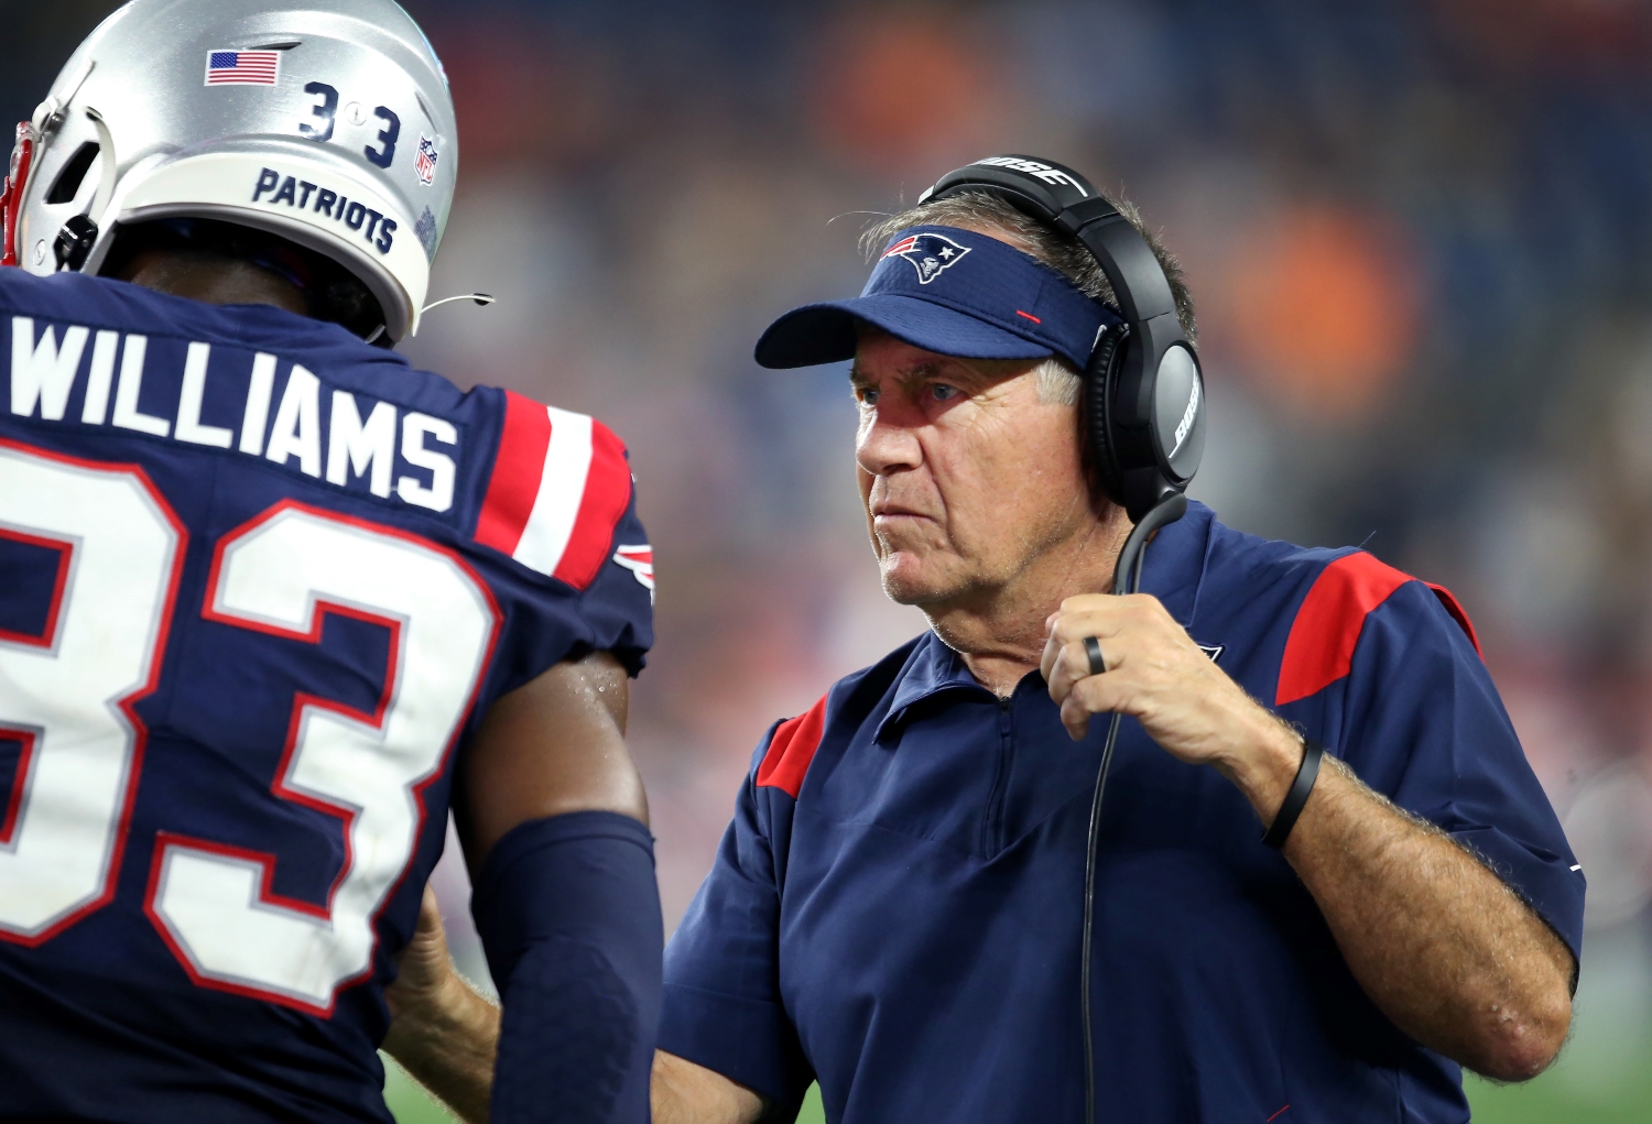
<path id="1" fill-rule="evenodd" d="M 1320 571 L 1290 624 L 1274 705 L 1307 698 L 1346 675 L 1371 609 L 1411 579 L 1363 550 Z"/>

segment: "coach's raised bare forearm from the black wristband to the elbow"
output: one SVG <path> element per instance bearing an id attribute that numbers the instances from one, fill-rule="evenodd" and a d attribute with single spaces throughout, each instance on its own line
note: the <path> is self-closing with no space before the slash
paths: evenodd
<path id="1" fill-rule="evenodd" d="M 1241 781 L 1264 822 L 1298 761 L 1292 749 Z M 1449 835 L 1327 756 L 1285 858 L 1355 979 L 1401 1030 L 1503 1081 L 1555 1060 L 1571 1025 L 1571 951 Z"/>

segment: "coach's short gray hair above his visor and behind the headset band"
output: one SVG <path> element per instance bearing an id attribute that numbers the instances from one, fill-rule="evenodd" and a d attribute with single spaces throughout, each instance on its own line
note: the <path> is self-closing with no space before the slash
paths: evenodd
<path id="1" fill-rule="evenodd" d="M 1146 229 L 1142 223 L 1142 215 L 1137 211 L 1135 203 L 1125 198 L 1113 198 L 1105 195 L 1108 203 L 1118 208 L 1118 213 L 1125 216 L 1125 221 L 1142 233 L 1146 239 L 1148 248 L 1153 256 L 1158 257 L 1160 267 L 1165 271 L 1165 277 L 1170 279 L 1170 295 L 1176 300 L 1176 319 L 1181 322 L 1181 332 L 1188 337 L 1188 343 L 1198 345 L 1199 328 L 1198 322 L 1193 319 L 1193 294 L 1188 292 L 1188 284 L 1181 276 L 1181 262 L 1176 256 L 1165 249 L 1165 243 L 1158 239 L 1158 234 Z M 907 229 L 909 226 L 970 226 L 976 229 L 998 229 L 1008 234 L 1008 241 L 1028 254 L 1032 254 L 1046 266 L 1064 276 L 1080 292 L 1087 297 L 1095 297 L 1105 304 L 1113 312 L 1118 312 L 1118 300 L 1113 297 L 1113 287 L 1107 281 L 1107 274 L 1102 267 L 1095 264 L 1090 251 L 1074 238 L 1072 234 L 1062 234 L 1061 231 L 1046 226 L 1026 211 L 1016 210 L 1013 205 L 1006 203 L 1003 196 L 993 195 L 991 191 L 960 191 L 958 195 L 948 195 L 943 200 L 935 200 L 933 203 L 920 203 L 914 208 L 900 211 L 899 215 L 890 215 L 889 218 L 872 223 L 861 234 L 861 249 L 866 253 L 867 261 L 877 254 L 892 236 Z M 1044 391 L 1044 380 L 1041 375 L 1039 391 Z M 1072 391 L 1077 394 L 1077 390 Z"/>

